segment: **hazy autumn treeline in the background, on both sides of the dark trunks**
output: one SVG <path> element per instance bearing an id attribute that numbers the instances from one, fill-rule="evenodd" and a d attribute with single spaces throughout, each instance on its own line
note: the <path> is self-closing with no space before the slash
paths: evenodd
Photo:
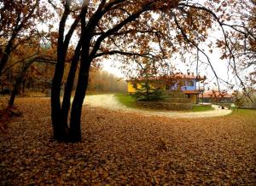
<path id="1" fill-rule="evenodd" d="M 68 64 L 67 64 L 68 65 Z M 35 63 L 29 67 L 26 73 L 22 74 L 22 80 L 18 86 L 16 94 L 26 96 L 32 92 L 41 92 L 49 96 L 52 88 L 52 77 L 54 73 L 54 66 L 47 63 Z M 64 76 L 67 77 L 66 72 Z M 4 73 L 0 78 L 0 95 L 11 94 L 15 88 L 15 84 L 19 78 L 18 70 L 13 67 L 8 73 Z M 76 77 L 77 78 L 77 77 Z M 66 84 L 61 83 L 61 95 L 65 89 Z M 77 87 L 77 82 L 73 84 L 73 90 Z M 89 86 L 90 93 L 108 93 L 108 92 L 125 92 L 127 90 L 127 83 L 125 80 L 116 77 L 112 73 L 102 71 L 100 69 L 93 69 L 90 72 Z"/>

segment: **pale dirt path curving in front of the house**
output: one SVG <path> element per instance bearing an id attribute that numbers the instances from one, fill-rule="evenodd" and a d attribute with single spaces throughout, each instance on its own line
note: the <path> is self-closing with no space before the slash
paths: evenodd
<path id="1" fill-rule="evenodd" d="M 127 108 L 125 105 L 120 103 L 114 95 L 95 95 L 86 96 L 84 104 L 89 104 L 91 107 L 97 108 L 108 108 L 111 110 L 120 110 L 128 113 L 142 113 L 143 115 L 156 115 L 165 116 L 171 118 L 206 118 L 224 116 L 230 114 L 232 111 L 228 109 L 220 109 L 217 105 L 212 105 L 214 110 L 205 112 L 175 112 L 175 111 L 148 111 L 137 108 Z"/>

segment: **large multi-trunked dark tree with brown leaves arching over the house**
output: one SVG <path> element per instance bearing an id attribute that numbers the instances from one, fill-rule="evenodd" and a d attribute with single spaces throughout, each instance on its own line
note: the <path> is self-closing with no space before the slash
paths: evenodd
<path id="1" fill-rule="evenodd" d="M 227 6 L 229 1 L 213 2 L 218 6 Z M 163 60 L 175 53 L 183 54 L 183 51 L 191 52 L 192 49 L 198 49 L 207 57 L 207 63 L 212 67 L 200 44 L 206 41 L 209 28 L 214 22 L 226 36 L 223 20 L 228 17 L 214 13 L 212 9 L 217 5 L 212 5 L 212 1 L 200 4 L 183 0 L 84 0 L 81 4 L 66 0 L 63 3 L 64 10 L 61 12 L 59 24 L 57 64 L 51 95 L 55 139 L 70 142 L 81 140 L 80 115 L 90 67 L 101 57 L 124 56 L 123 62 L 129 65 L 137 56 L 150 55 L 154 59 Z M 73 20 L 71 26 L 67 25 L 69 18 Z M 75 51 L 61 103 L 61 81 L 73 35 L 76 35 L 78 40 L 74 46 Z M 154 52 L 148 54 L 148 50 Z M 229 51 L 232 52 L 231 49 Z M 71 105 L 71 89 L 78 64 L 77 89 Z M 220 78 L 213 67 L 212 71 L 219 81 Z M 71 117 L 67 122 L 70 108 Z"/>

